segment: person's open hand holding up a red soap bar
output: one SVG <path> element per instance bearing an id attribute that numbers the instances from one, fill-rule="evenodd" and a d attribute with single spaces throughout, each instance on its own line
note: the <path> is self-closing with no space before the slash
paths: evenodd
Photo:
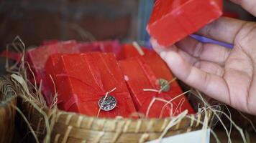
<path id="1" fill-rule="evenodd" d="M 232 0 L 256 16 L 255 0 Z M 256 115 L 256 22 L 220 18 L 197 34 L 234 44 L 227 49 L 186 37 L 155 51 L 178 79 L 242 112 Z"/>

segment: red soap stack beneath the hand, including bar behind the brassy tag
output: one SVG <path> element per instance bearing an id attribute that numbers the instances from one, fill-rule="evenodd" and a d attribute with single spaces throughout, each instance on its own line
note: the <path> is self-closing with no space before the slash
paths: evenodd
<path id="1" fill-rule="evenodd" d="M 131 44 L 126 44 L 122 49 L 122 55 L 119 61 L 120 67 L 127 79 L 132 98 L 134 99 L 135 107 L 139 112 L 147 114 L 147 108 L 154 97 L 170 101 L 176 96 L 183 94 L 182 89 L 178 85 L 178 82 L 173 81 L 170 84 L 170 90 L 157 94 L 156 92 L 143 92 L 143 89 L 160 89 L 160 85 L 157 79 L 165 79 L 166 81 L 173 80 L 168 65 L 163 59 L 158 56 L 155 51 L 150 51 L 142 47 L 143 51 L 146 51 L 143 56 L 138 54 L 137 49 Z M 125 52 L 124 52 L 125 51 Z M 194 111 L 191 104 L 188 102 L 184 95 L 175 98 L 173 107 L 165 106 L 165 102 L 156 101 L 150 108 L 148 117 L 170 117 L 171 114 L 177 115 L 188 109 L 189 114 L 193 114 Z M 162 111 L 162 112 L 160 112 Z"/>

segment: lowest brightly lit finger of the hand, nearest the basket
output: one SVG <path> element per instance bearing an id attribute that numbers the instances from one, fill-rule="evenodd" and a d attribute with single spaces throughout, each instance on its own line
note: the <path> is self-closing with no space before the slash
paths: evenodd
<path id="1" fill-rule="evenodd" d="M 214 99 L 229 103 L 229 90 L 224 79 L 191 66 L 176 51 L 162 52 L 163 59 L 178 79 Z"/>

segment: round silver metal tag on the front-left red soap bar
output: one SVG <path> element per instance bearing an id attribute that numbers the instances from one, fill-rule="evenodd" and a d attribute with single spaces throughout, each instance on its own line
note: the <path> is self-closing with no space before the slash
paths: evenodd
<path id="1" fill-rule="evenodd" d="M 108 96 L 106 98 L 101 97 L 101 99 L 99 99 L 99 107 L 102 110 L 108 112 L 108 111 L 114 109 L 114 107 L 116 107 L 116 99 L 112 96 Z"/>

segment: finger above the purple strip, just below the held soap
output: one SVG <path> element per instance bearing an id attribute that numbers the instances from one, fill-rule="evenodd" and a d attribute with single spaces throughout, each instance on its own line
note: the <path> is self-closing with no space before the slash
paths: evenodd
<path id="1" fill-rule="evenodd" d="M 234 44 L 234 39 L 247 21 L 221 17 L 216 21 L 204 26 L 197 34 Z"/>

